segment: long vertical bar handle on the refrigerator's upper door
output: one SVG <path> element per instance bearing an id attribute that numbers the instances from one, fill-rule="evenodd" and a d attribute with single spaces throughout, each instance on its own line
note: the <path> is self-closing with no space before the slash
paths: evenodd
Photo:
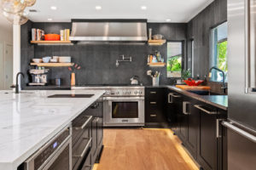
<path id="1" fill-rule="evenodd" d="M 245 93 L 248 94 L 249 93 L 249 88 L 250 88 L 250 27 L 249 27 L 249 23 L 250 23 L 250 17 L 249 17 L 249 1 L 250 0 L 245 0 Z"/>

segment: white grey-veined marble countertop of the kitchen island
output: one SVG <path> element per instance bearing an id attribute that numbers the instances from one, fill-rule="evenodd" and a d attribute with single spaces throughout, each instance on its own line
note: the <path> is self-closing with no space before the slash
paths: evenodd
<path id="1" fill-rule="evenodd" d="M 16 170 L 104 90 L 0 91 L 0 169 Z M 91 98 L 47 98 L 52 94 L 95 94 Z"/>

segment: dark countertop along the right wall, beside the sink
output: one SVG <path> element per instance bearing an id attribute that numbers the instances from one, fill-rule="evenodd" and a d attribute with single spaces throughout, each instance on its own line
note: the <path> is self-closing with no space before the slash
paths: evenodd
<path id="1" fill-rule="evenodd" d="M 166 87 L 176 91 L 177 93 L 188 95 L 191 98 L 198 99 L 198 100 L 205 102 L 209 105 L 213 105 L 213 106 L 218 107 L 219 109 L 228 111 L 228 96 L 227 95 L 197 95 L 197 94 L 190 93 L 186 90 L 183 90 L 181 88 L 176 88 L 175 86 L 166 86 Z"/>

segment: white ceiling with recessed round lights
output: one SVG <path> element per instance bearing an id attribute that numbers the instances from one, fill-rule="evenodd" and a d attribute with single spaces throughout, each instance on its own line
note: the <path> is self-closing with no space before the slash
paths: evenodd
<path id="1" fill-rule="evenodd" d="M 35 22 L 69 22 L 71 19 L 148 19 L 148 22 L 188 22 L 213 0 L 37 0 L 28 9 Z M 102 10 L 96 10 L 96 6 Z M 51 6 L 57 10 L 50 9 Z M 146 10 L 141 7 L 146 6 Z"/>

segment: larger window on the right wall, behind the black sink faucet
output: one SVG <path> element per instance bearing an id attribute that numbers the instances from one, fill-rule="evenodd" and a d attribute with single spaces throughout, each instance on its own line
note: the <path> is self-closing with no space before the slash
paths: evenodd
<path id="1" fill-rule="evenodd" d="M 227 22 L 221 24 L 211 30 L 211 59 L 210 66 L 216 66 L 224 71 L 225 81 L 228 81 L 228 61 L 227 61 L 227 45 L 228 45 L 228 28 Z M 219 71 L 212 70 L 212 82 L 221 82 L 223 75 Z"/>

